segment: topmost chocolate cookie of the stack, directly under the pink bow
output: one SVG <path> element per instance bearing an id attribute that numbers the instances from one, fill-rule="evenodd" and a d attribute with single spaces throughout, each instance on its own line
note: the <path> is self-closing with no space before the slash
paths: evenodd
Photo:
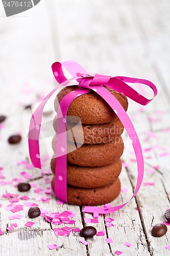
<path id="1" fill-rule="evenodd" d="M 66 94 L 78 88 L 78 86 L 69 86 L 65 87 L 58 93 L 54 102 L 54 108 L 56 112 L 58 109 L 58 102 L 60 102 Z M 127 97 L 122 93 L 118 93 L 108 87 L 105 88 L 112 95 L 115 96 L 115 98 L 120 102 L 120 104 L 122 104 L 123 108 L 127 111 Z M 69 105 L 67 116 L 68 121 L 75 123 L 78 122 L 79 117 L 81 119 L 81 122 L 84 124 L 108 123 L 112 122 L 117 118 L 115 112 L 111 109 L 110 105 L 94 91 L 83 94 L 74 99 Z"/>

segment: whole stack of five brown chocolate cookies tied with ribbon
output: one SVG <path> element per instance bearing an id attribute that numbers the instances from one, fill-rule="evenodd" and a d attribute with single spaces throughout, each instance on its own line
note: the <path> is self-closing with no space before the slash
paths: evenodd
<path id="1" fill-rule="evenodd" d="M 55 99 L 55 111 L 62 98 L 77 89 L 70 86 Z M 127 97 L 110 88 L 127 111 Z M 77 125 L 78 118 L 82 125 Z M 57 129 L 57 117 L 54 118 Z M 71 132 L 69 132 L 71 131 Z M 73 132 L 72 132 L 73 131 Z M 95 92 L 81 95 L 67 111 L 67 201 L 75 205 L 101 205 L 113 201 L 120 193 L 120 157 L 124 151 L 121 134 L 124 126 L 108 103 Z M 83 140 L 82 140 L 83 138 Z M 56 136 L 52 142 L 56 150 Z M 51 160 L 55 175 L 56 159 Z M 55 177 L 52 179 L 54 190 Z"/>

